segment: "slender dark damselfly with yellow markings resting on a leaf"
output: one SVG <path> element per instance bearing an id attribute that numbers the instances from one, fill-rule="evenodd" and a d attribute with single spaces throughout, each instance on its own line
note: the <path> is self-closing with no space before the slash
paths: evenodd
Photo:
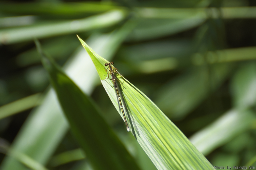
<path id="1" fill-rule="evenodd" d="M 127 120 L 126 120 L 126 117 L 125 117 L 125 112 L 127 113 L 127 110 L 126 110 L 126 105 L 125 105 L 125 102 L 124 102 L 124 99 L 123 99 L 123 95 L 120 91 L 120 88 L 116 82 L 116 76 L 114 74 L 114 72 L 118 73 L 116 70 L 116 68 L 113 67 L 113 64 L 114 62 L 110 62 L 110 63 L 105 63 L 105 66 L 109 66 L 109 68 L 107 70 L 109 70 L 108 72 L 108 78 L 109 78 L 109 73 L 111 75 L 111 80 L 114 84 L 114 88 L 115 88 L 115 93 L 116 93 L 116 97 L 117 97 L 117 100 L 118 100 L 118 105 L 119 105 L 119 109 L 121 110 L 122 114 L 123 114 L 123 117 L 124 117 L 124 122 L 125 122 L 125 125 L 126 125 L 126 129 L 127 131 L 129 132 L 130 131 L 130 128 L 128 126 L 128 123 L 127 123 Z M 107 71 L 106 70 L 106 71 Z"/>

